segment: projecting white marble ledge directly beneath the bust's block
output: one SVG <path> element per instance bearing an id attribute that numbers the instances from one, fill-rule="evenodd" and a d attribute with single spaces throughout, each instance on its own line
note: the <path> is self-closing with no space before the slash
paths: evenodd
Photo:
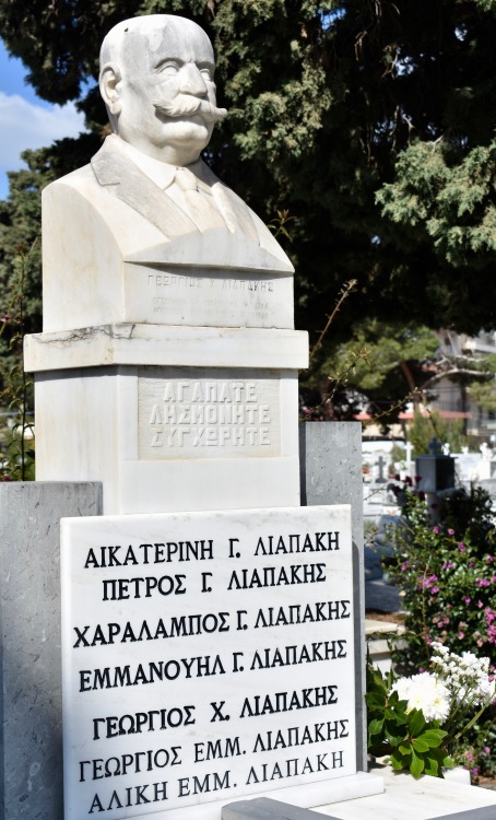
<path id="1" fill-rule="evenodd" d="M 33 333 L 24 339 L 27 373 L 117 364 L 300 370 L 308 367 L 308 333 L 115 324 Z"/>

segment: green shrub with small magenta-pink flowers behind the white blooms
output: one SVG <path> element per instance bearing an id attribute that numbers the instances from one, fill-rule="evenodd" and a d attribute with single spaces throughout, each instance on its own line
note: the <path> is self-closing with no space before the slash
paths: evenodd
<path id="1" fill-rule="evenodd" d="M 418 494 L 408 490 L 404 524 L 391 532 L 394 555 L 390 577 L 402 589 L 406 633 L 393 653 L 400 673 L 414 675 L 429 666 L 433 642 L 451 652 L 470 652 L 496 661 L 496 528 L 491 501 L 482 490 L 457 490 L 442 500 L 439 523 Z M 470 754 L 468 768 L 495 768 L 491 746 L 496 714 L 489 707 L 460 743 Z M 459 755 L 459 757 L 460 757 Z"/>

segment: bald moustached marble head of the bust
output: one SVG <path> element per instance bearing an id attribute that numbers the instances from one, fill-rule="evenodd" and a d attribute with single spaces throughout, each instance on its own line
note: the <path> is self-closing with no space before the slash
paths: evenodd
<path id="1" fill-rule="evenodd" d="M 190 165 L 216 120 L 212 45 L 185 17 L 150 14 L 118 23 L 101 50 L 99 87 L 115 133 L 149 156 Z"/>

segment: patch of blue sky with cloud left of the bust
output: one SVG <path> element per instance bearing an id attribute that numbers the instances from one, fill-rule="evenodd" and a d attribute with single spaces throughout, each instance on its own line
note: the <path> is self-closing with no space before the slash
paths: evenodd
<path id="1" fill-rule="evenodd" d="M 9 190 L 7 172 L 24 166 L 21 151 L 50 145 L 84 130 L 84 117 L 72 103 L 59 106 L 39 99 L 25 82 L 26 73 L 0 39 L 0 199 L 5 199 Z"/>

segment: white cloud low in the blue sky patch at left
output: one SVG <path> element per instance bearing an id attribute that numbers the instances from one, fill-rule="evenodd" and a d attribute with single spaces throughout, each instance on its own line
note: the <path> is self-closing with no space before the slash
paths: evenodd
<path id="1" fill-rule="evenodd" d="M 78 137 L 83 130 L 84 116 L 73 103 L 47 108 L 0 91 L 0 198 L 7 194 L 5 172 L 24 167 L 21 151 L 50 145 L 62 137 Z"/>

